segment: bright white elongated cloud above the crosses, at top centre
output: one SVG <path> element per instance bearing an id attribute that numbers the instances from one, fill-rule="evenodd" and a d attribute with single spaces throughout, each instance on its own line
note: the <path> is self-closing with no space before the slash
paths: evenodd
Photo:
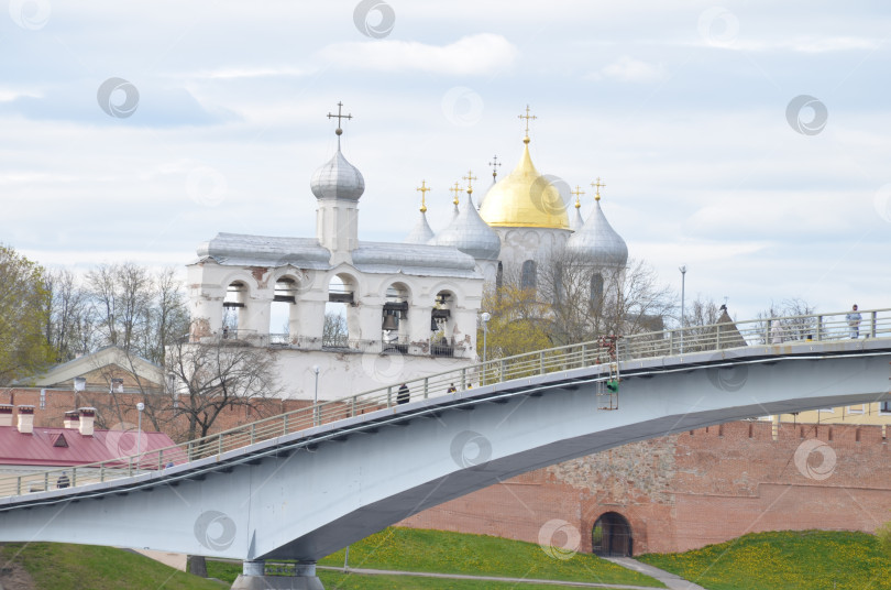
<path id="1" fill-rule="evenodd" d="M 482 75 L 510 66 L 519 51 L 502 35 L 483 33 L 449 45 L 416 41 L 336 43 L 319 52 L 326 62 L 351 69 L 420 70 L 458 76 Z"/>

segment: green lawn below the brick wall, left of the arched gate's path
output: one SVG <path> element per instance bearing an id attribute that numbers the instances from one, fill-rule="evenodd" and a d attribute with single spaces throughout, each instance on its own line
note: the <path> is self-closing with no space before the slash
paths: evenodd
<path id="1" fill-rule="evenodd" d="M 343 567 L 343 550 L 338 551 L 319 561 L 319 565 Z M 571 559 L 557 559 L 534 543 L 416 528 L 386 528 L 352 545 L 350 567 L 664 588 L 652 578 L 629 571 L 593 555 L 579 554 Z M 234 579 L 232 571 L 238 575 L 241 571 L 240 566 L 208 562 L 208 573 L 213 577 Z M 323 577 L 321 570 L 319 577 Z M 369 576 L 362 577 L 361 580 L 371 583 Z M 443 582 L 448 584 L 443 586 Z M 346 580 L 345 583 L 352 582 Z M 417 583 L 420 586 L 413 588 L 477 588 L 473 584 L 459 587 L 457 580 L 424 580 Z M 491 586 L 491 582 L 487 583 Z M 391 586 L 381 588 L 393 587 L 391 582 Z"/>

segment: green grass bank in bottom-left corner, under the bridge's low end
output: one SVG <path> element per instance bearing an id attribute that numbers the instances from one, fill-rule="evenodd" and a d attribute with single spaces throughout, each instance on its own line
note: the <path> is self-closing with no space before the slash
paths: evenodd
<path id="1" fill-rule="evenodd" d="M 177 571 L 147 557 L 112 547 L 62 543 L 10 543 L 3 567 L 22 565 L 37 590 L 221 590 L 228 586 Z"/>

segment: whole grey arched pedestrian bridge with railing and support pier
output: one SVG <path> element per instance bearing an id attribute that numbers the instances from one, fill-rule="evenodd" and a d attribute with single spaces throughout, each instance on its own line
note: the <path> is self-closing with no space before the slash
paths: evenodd
<path id="1" fill-rule="evenodd" d="M 856 339 L 836 314 L 496 359 L 408 382 L 407 404 L 394 385 L 68 469 L 64 490 L 28 493 L 59 472 L 3 478 L 0 540 L 238 558 L 238 588 L 321 588 L 317 559 L 526 471 L 728 420 L 891 401 L 891 309 L 861 314 Z M 266 559 L 305 566 L 274 582 L 292 586 L 251 586 Z"/>

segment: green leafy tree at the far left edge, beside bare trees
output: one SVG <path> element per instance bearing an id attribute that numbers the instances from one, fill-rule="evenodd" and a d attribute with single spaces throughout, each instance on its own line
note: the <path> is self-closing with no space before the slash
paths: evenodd
<path id="1" fill-rule="evenodd" d="M 0 244 L 0 384 L 53 361 L 45 337 L 51 305 L 44 269 Z"/>

